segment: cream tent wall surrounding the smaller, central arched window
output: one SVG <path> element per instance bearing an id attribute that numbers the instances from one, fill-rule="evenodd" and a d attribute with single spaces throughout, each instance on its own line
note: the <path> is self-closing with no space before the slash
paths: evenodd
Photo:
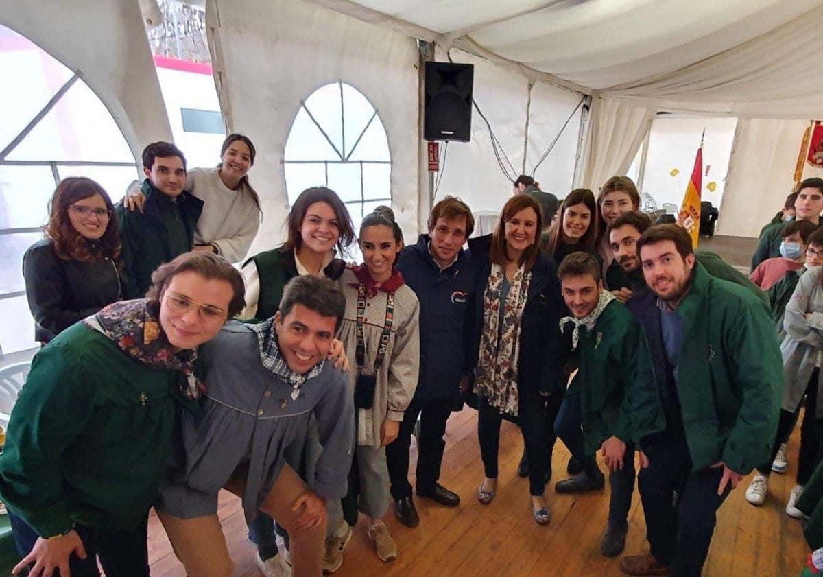
<path id="1" fill-rule="evenodd" d="M 207 2 L 212 59 L 226 126 L 258 149 L 253 184 L 263 224 L 250 254 L 280 244 L 286 181 L 281 161 L 302 100 L 342 80 L 377 109 L 392 156 L 398 224 L 414 238 L 418 197 L 418 52 L 412 38 L 300 0 Z M 323 175 L 319 175 L 319 184 Z"/>

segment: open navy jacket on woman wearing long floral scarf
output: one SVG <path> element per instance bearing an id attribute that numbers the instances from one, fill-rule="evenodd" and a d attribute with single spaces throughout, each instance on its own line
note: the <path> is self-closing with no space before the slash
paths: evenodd
<path id="1" fill-rule="evenodd" d="M 491 273 L 491 235 L 469 240 L 468 246 L 477 266 L 477 298 L 472 323 L 472 365 L 477 365 L 483 326 L 483 294 Z M 563 309 L 555 263 L 545 254 L 538 254 L 520 319 L 518 388 L 521 393 L 565 393 L 568 375 L 563 366 L 567 351 L 560 335 Z"/>

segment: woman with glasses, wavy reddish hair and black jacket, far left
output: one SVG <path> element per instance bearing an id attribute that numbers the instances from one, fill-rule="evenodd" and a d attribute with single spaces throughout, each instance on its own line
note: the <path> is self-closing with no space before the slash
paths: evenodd
<path id="1" fill-rule="evenodd" d="M 113 210 L 111 198 L 94 180 L 63 179 L 54 190 L 46 238 L 23 257 L 35 339 L 43 344 L 122 297 Z"/>

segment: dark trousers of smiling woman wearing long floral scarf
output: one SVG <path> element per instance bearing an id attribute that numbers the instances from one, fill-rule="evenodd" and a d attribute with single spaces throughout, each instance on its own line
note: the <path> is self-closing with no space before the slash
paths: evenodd
<path id="1" fill-rule="evenodd" d="M 518 424 L 523 434 L 523 445 L 528 459 L 528 489 L 532 496 L 542 496 L 546 485 L 546 455 L 548 454 L 548 430 L 546 422 L 554 422 L 563 395 L 556 393 L 549 397 L 539 394 L 520 394 Z M 551 412 L 551 415 L 548 413 Z M 551 416 L 550 418 L 547 418 Z M 480 455 L 486 477 L 497 478 L 498 453 L 500 451 L 500 424 L 503 416 L 497 407 L 492 407 L 488 399 L 478 395 L 477 438 L 480 440 Z"/>

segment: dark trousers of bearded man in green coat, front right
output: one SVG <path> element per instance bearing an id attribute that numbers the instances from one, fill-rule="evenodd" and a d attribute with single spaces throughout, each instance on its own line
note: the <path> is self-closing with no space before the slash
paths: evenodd
<path id="1" fill-rule="evenodd" d="M 718 496 L 723 467 L 692 472 L 682 434 L 659 436 L 646 450 L 649 468 L 640 469 L 637 481 L 651 553 L 658 562 L 671 565 L 670 577 L 700 577 L 717 510 L 732 486 Z"/>

